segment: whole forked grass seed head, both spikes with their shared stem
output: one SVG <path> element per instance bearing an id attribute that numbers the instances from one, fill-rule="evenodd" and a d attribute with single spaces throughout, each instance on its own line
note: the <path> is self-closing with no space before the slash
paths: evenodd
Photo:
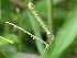
<path id="1" fill-rule="evenodd" d="M 30 2 L 28 5 L 29 5 L 29 9 L 31 10 L 31 12 L 33 13 L 33 15 L 36 18 L 37 22 L 38 22 L 38 23 L 42 25 L 42 27 L 45 30 L 45 32 L 47 33 L 47 35 L 51 35 L 51 36 L 52 36 L 50 30 L 47 28 L 47 26 L 44 24 L 44 22 L 43 22 L 42 19 L 40 18 L 40 15 L 38 15 L 38 14 L 36 13 L 36 11 L 34 10 L 33 3 Z M 14 27 L 21 30 L 22 32 L 29 34 L 31 37 L 33 37 L 33 39 L 37 39 L 37 40 L 40 40 L 41 43 L 45 44 L 46 47 L 45 47 L 45 49 L 44 49 L 43 58 L 46 58 L 46 54 L 47 54 L 48 47 L 50 47 L 52 40 L 54 39 L 54 36 L 52 37 L 50 44 L 46 44 L 44 40 L 42 40 L 41 38 L 34 36 L 33 34 L 31 34 L 30 32 L 23 30 L 22 27 L 16 26 L 16 25 L 14 25 L 13 23 L 10 23 L 10 22 L 6 22 L 6 23 L 8 23 L 9 25 L 12 25 L 12 26 L 14 26 Z"/>

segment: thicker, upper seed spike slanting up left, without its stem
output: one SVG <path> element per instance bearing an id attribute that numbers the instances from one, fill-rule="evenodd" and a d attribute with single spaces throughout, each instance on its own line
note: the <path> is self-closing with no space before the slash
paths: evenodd
<path id="1" fill-rule="evenodd" d="M 45 32 L 51 35 L 50 30 L 47 28 L 47 26 L 44 24 L 44 22 L 40 18 L 40 15 L 34 10 L 33 3 L 30 2 L 28 5 L 29 5 L 29 9 L 31 10 L 31 12 L 33 13 L 33 15 L 36 18 L 36 21 L 42 25 L 42 27 L 45 30 Z"/>

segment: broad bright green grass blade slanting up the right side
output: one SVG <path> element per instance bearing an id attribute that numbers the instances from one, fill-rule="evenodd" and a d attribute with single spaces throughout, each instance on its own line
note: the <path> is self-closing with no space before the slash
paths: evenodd
<path id="1" fill-rule="evenodd" d="M 77 36 L 77 7 L 69 14 L 63 27 L 58 31 L 46 53 L 46 58 L 58 58 Z"/>

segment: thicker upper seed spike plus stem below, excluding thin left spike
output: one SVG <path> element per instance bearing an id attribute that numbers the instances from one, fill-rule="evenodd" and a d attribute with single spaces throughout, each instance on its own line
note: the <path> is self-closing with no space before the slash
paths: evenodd
<path id="1" fill-rule="evenodd" d="M 33 13 L 33 15 L 36 18 L 36 21 L 37 21 L 37 22 L 42 25 L 42 27 L 45 30 L 45 32 L 47 33 L 47 35 L 51 35 L 51 36 L 52 36 L 50 30 L 47 28 L 47 26 L 44 24 L 44 22 L 43 22 L 42 19 L 40 18 L 40 15 L 38 15 L 38 14 L 36 13 L 36 11 L 34 10 L 33 3 L 30 2 L 28 5 L 29 5 L 29 9 L 31 10 L 31 12 Z M 50 44 L 46 44 L 46 47 L 45 47 L 45 49 L 44 49 L 43 58 L 46 58 L 46 54 L 47 54 L 48 47 L 50 47 L 50 45 L 51 45 L 51 43 L 52 43 L 53 39 L 54 39 L 54 36 L 52 37 Z"/>

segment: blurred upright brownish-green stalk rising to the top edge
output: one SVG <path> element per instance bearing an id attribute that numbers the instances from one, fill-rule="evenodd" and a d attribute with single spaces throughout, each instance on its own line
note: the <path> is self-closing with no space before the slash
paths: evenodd
<path id="1" fill-rule="evenodd" d="M 51 34 L 53 35 L 53 14 L 52 14 L 52 0 L 47 0 L 47 25 L 48 28 L 51 31 Z M 47 34 L 48 39 L 52 38 L 48 34 Z"/>

